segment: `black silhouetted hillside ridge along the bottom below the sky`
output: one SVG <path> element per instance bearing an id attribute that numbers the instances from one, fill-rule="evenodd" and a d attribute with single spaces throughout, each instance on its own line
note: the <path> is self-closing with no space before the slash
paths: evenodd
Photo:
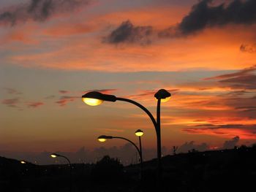
<path id="1" fill-rule="evenodd" d="M 97 164 L 72 164 L 72 191 L 255 191 L 256 146 L 211 150 L 162 158 L 163 177 L 157 185 L 157 159 L 123 166 L 105 156 Z M 70 191 L 69 166 L 20 164 L 0 157 L 0 191 Z M 252 190 L 249 190 L 249 189 Z"/>

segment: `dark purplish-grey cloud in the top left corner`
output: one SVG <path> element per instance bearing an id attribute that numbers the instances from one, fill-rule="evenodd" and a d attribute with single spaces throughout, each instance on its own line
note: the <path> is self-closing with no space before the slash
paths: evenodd
<path id="1" fill-rule="evenodd" d="M 15 25 L 28 20 L 45 21 L 53 15 L 72 12 L 89 4 L 89 0 L 31 0 L 29 4 L 7 7 L 0 12 L 0 24 Z"/>

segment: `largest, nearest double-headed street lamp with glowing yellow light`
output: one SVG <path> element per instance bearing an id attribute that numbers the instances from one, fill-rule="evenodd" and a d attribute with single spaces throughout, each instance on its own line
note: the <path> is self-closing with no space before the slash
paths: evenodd
<path id="1" fill-rule="evenodd" d="M 157 120 L 154 118 L 154 116 L 149 112 L 146 107 L 143 107 L 143 105 L 139 104 L 136 101 L 133 101 L 131 99 L 125 99 L 125 98 L 120 98 L 116 97 L 113 95 L 108 95 L 108 94 L 103 94 L 99 93 L 97 91 L 91 91 L 89 93 L 86 93 L 82 96 L 83 102 L 86 104 L 89 104 L 91 106 L 97 106 L 99 104 L 102 104 L 103 101 L 126 101 L 131 104 L 135 104 L 137 107 L 140 107 L 141 110 L 146 112 L 148 117 L 151 119 L 152 123 L 154 124 L 154 128 L 156 130 L 157 134 L 157 159 L 158 159 L 158 166 L 157 166 L 157 172 L 158 172 L 158 178 L 161 180 L 162 177 L 162 163 L 161 163 L 161 157 L 162 157 L 162 152 L 161 152 L 161 123 L 160 123 L 160 105 L 161 101 L 166 102 L 170 99 L 170 93 L 167 92 L 165 89 L 160 89 L 157 91 L 157 93 L 154 94 L 154 97 L 157 99 Z"/>

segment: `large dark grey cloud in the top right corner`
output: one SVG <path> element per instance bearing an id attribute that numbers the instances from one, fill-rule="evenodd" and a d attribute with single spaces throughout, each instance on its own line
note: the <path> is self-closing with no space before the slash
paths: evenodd
<path id="1" fill-rule="evenodd" d="M 193 5 L 189 15 L 185 16 L 181 23 L 161 31 L 159 36 L 187 36 L 209 27 L 256 23 L 255 0 L 233 0 L 229 4 L 214 5 L 215 2 L 213 0 L 199 1 Z"/>

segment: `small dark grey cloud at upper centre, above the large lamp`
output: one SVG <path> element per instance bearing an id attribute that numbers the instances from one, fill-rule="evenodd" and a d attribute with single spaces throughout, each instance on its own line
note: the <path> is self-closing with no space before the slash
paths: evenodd
<path id="1" fill-rule="evenodd" d="M 151 43 L 150 36 L 152 31 L 153 28 L 151 26 L 134 26 L 127 20 L 113 30 L 108 37 L 104 37 L 103 42 L 110 44 L 138 43 L 140 45 L 148 45 Z"/>

